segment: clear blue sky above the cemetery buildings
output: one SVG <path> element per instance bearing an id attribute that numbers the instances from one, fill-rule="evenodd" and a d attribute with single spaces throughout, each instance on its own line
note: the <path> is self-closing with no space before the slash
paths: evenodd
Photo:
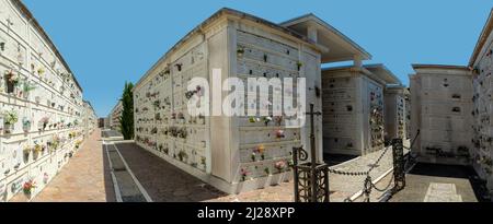
<path id="1" fill-rule="evenodd" d="M 411 63 L 466 66 L 492 8 L 485 0 L 24 0 L 99 116 L 180 38 L 223 7 L 272 22 L 312 12 L 405 84 Z"/>

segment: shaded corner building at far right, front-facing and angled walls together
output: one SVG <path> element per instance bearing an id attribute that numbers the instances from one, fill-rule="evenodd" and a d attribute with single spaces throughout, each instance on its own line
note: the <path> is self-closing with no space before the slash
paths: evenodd
<path id="1" fill-rule="evenodd" d="M 493 192 L 493 10 L 468 67 L 414 64 L 411 133 L 419 161 L 472 165 Z M 493 193 L 492 193 L 493 194 Z"/>

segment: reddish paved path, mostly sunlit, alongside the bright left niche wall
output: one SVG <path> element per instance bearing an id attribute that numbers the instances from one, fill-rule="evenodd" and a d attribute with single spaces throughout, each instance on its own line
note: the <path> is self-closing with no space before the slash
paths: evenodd
<path id="1" fill-rule="evenodd" d="M 113 182 L 101 142 L 95 130 L 81 150 L 34 202 L 114 202 Z"/>

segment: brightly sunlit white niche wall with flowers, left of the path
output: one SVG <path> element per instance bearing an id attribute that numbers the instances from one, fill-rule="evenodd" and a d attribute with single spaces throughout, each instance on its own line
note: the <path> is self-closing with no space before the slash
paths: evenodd
<path id="1" fill-rule="evenodd" d="M 82 141 L 82 95 L 37 30 L 0 0 L 0 201 L 35 197 Z"/>

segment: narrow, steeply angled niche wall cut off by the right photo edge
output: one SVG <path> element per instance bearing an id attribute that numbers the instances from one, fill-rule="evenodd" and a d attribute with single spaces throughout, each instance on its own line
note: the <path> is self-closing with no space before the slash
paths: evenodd
<path id="1" fill-rule="evenodd" d="M 473 166 L 493 189 L 493 34 L 490 34 L 473 68 Z M 493 192 L 493 190 L 492 190 Z"/>

